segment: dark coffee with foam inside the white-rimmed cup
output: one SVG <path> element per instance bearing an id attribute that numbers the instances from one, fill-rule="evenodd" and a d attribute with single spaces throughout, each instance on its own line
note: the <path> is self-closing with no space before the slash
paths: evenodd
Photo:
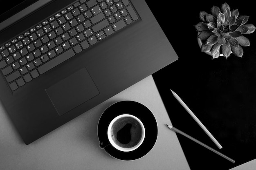
<path id="1" fill-rule="evenodd" d="M 122 148 L 136 146 L 142 137 L 142 127 L 132 117 L 121 117 L 111 127 L 112 140 Z"/>

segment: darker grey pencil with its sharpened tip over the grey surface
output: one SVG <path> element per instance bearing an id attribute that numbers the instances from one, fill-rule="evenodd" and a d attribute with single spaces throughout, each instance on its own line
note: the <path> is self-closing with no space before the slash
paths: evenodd
<path id="1" fill-rule="evenodd" d="M 218 152 L 217 150 L 211 148 L 210 146 L 207 146 L 206 144 L 204 144 L 204 143 L 198 141 L 197 139 L 195 139 L 195 138 L 193 138 L 193 137 L 187 135 L 186 133 L 182 132 L 181 130 L 179 130 L 179 129 L 173 127 L 173 126 L 170 126 L 170 125 L 166 125 L 166 126 L 168 126 L 168 128 L 170 128 L 170 129 L 173 130 L 174 132 L 179 133 L 180 135 L 183 135 L 184 137 L 187 137 L 187 138 L 191 139 L 192 141 L 194 141 L 194 142 L 200 144 L 201 146 L 204 146 L 205 148 L 207 148 L 207 149 L 213 151 L 214 153 L 220 155 L 221 157 L 223 157 L 223 158 L 225 158 L 225 159 L 231 161 L 232 163 L 235 163 L 235 161 L 234 161 L 233 159 L 231 159 L 231 158 L 227 157 L 226 155 L 224 155 L 224 154 Z"/>

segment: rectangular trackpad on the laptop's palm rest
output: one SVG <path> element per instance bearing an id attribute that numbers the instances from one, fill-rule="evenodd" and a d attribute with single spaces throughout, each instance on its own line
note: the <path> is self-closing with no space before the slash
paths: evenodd
<path id="1" fill-rule="evenodd" d="M 59 115 L 67 113 L 99 94 L 86 68 L 57 82 L 45 91 Z"/>

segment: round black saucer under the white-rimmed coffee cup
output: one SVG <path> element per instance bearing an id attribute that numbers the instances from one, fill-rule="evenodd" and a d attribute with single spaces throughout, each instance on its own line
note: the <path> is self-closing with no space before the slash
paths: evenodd
<path id="1" fill-rule="evenodd" d="M 131 161 L 139 159 L 146 155 L 155 145 L 157 140 L 157 121 L 151 113 L 151 111 L 144 105 L 133 102 L 133 101 L 122 101 L 117 102 L 109 106 L 101 115 L 98 123 L 98 138 L 99 142 L 108 141 L 107 130 L 108 125 L 118 115 L 130 114 L 138 117 L 144 124 L 146 130 L 146 136 L 139 148 L 131 152 L 122 152 L 117 150 L 111 145 L 108 145 L 104 150 L 111 155 L 120 160 Z"/>

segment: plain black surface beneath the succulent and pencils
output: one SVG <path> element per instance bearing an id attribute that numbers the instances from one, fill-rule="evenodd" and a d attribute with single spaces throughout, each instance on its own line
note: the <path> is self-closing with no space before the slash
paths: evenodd
<path id="1" fill-rule="evenodd" d="M 202 53 L 193 25 L 200 11 L 211 13 L 213 5 L 227 2 L 239 15 L 249 15 L 256 25 L 254 5 L 234 1 L 150 1 L 155 18 L 179 56 L 179 60 L 153 74 L 173 126 L 222 152 L 235 164 L 177 134 L 192 170 L 227 170 L 256 158 L 256 32 L 245 35 L 251 46 L 242 58 L 212 60 Z M 175 91 L 223 146 L 211 141 L 173 97 Z"/>

